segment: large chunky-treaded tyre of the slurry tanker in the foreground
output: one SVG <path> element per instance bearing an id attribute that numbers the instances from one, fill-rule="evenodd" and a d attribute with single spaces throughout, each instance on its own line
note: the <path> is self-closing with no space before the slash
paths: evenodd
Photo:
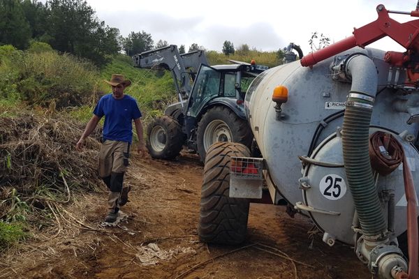
<path id="1" fill-rule="evenodd" d="M 249 157 L 247 146 L 218 142 L 207 152 L 200 200 L 200 241 L 239 244 L 246 239 L 249 200 L 229 197 L 230 157 Z"/>

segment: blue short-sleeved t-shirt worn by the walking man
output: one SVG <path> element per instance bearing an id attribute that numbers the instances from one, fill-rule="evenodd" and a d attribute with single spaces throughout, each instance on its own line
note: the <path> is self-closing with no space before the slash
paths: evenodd
<path id="1" fill-rule="evenodd" d="M 124 98 L 117 100 L 112 93 L 99 100 L 93 113 L 98 117 L 105 116 L 103 140 L 119 140 L 130 144 L 133 140 L 133 119 L 142 116 L 134 98 L 124 95 Z"/>

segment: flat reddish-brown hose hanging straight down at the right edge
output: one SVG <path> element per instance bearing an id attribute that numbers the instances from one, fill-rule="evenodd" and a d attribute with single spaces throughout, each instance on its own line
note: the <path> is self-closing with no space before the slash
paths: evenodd
<path id="1" fill-rule="evenodd" d="M 418 218 L 416 217 L 416 190 L 413 186 L 412 174 L 403 155 L 404 192 L 407 200 L 407 243 L 409 251 L 409 279 L 418 279 Z"/>

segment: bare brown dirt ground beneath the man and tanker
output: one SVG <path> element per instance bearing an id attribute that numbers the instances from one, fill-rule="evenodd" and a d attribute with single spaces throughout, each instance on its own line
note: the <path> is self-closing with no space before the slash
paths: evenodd
<path id="1" fill-rule="evenodd" d="M 105 186 L 74 197 L 70 206 L 55 208 L 57 226 L 2 255 L 0 278 L 372 277 L 353 248 L 327 246 L 309 219 L 291 218 L 284 206 L 251 204 L 240 246 L 200 243 L 202 174 L 196 155 L 173 161 L 134 155 L 126 174 L 133 190 L 122 208 L 128 220 L 101 225 Z M 147 251 L 160 257 L 147 258 Z"/>

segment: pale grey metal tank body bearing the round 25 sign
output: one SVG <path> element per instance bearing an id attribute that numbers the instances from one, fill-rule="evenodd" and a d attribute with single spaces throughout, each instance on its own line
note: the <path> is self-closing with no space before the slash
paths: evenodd
<path id="1" fill-rule="evenodd" d="M 296 205 L 302 202 L 315 209 L 328 211 L 329 213 L 321 214 L 312 211 L 308 213 L 325 232 L 351 244 L 354 206 L 345 184 L 339 129 L 342 126 L 351 80 L 344 77 L 339 67 L 333 67 L 339 66 L 354 53 L 369 56 L 378 72 L 378 93 L 370 122 L 370 133 L 384 130 L 392 133 L 402 143 L 411 164 L 416 192 L 419 193 L 419 169 L 416 168 L 419 157 L 413 145 L 416 140 L 412 142 L 418 134 L 418 123 L 408 125 L 406 121 L 409 114 L 397 112 L 392 106 L 395 100 L 407 100 L 413 94 L 403 96 L 403 91 L 388 88 L 392 86 L 388 86 L 389 66 L 383 61 L 385 52 L 355 47 L 326 59 L 313 68 L 302 67 L 300 61 L 272 68 L 256 77 L 245 99 L 247 118 L 267 166 L 267 180 L 272 180 L 277 191 L 289 203 Z M 392 78 L 394 79 L 394 75 Z M 400 75 L 398 81 L 391 82 L 404 82 L 404 77 Z M 281 105 L 281 117 L 278 118 L 272 93 L 279 85 L 288 89 L 288 101 Z M 328 121 L 330 119 L 333 120 Z M 318 126 L 323 130 L 318 134 L 309 154 Z M 314 160 L 340 164 L 341 167 L 304 169 L 299 156 L 311 156 Z M 337 195 L 332 199 L 325 189 L 329 176 L 339 181 L 339 193 L 332 193 Z M 311 188 L 302 190 L 302 182 L 307 182 Z M 389 176 L 378 177 L 377 187 L 394 189 L 396 216 L 406 216 L 402 168 Z M 277 203 L 278 200 L 274 202 Z M 333 213 L 339 213 L 339 216 Z M 406 230 L 406 220 L 398 218 L 396 222 L 397 234 L 401 234 Z"/>

